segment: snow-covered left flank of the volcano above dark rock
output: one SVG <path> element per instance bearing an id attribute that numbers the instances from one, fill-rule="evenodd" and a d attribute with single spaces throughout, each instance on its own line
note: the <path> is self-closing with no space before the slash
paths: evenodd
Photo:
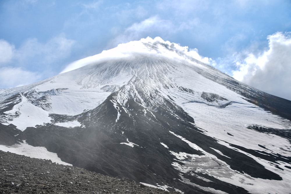
<path id="1" fill-rule="evenodd" d="M 111 67 L 116 65 L 119 64 L 111 64 Z M 115 92 L 131 79 L 131 74 L 123 67 L 110 70 L 108 64 L 92 66 L 88 65 L 28 86 L 7 89 L 0 94 L 0 106 L 9 105 L 8 110 L 0 115 L 1 122 L 14 124 L 24 130 L 37 124 L 50 123 L 49 114 L 78 115 L 97 107 L 111 92 Z M 6 102 L 15 96 L 19 96 L 19 102 Z M 13 106 L 13 103 L 19 104 Z M 24 108 L 23 104 L 27 107 Z M 19 107 L 22 107 L 23 111 L 19 111 Z M 21 116 L 28 114 L 25 112 L 33 113 L 36 118 Z M 36 114 L 37 112 L 39 114 Z M 39 122 L 38 117 L 47 119 Z M 27 124 L 23 126 L 21 123 Z"/>

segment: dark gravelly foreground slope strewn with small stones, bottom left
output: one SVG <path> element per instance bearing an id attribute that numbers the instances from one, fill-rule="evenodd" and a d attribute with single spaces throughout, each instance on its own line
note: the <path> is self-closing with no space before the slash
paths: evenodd
<path id="1" fill-rule="evenodd" d="M 50 160 L 0 151 L 0 193 L 171 193 Z M 36 170 L 34 170 L 36 169 Z"/>

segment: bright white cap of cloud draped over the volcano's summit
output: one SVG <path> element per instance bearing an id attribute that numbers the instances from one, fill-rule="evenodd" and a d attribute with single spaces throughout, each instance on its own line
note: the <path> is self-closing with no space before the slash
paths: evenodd
<path id="1" fill-rule="evenodd" d="M 154 39 L 147 37 L 138 41 L 122 43 L 113 49 L 104 50 L 100 54 L 74 61 L 65 67 L 61 73 L 65 73 L 91 63 L 102 62 L 104 60 L 134 58 L 141 55 L 151 57 L 162 56 L 175 60 L 187 60 L 190 63 L 192 63 L 193 60 L 191 59 L 193 58 L 204 63 L 209 63 L 209 60 L 211 60 L 207 57 L 200 56 L 197 49 L 189 50 L 187 46 L 183 47 L 177 43 L 165 41 L 161 37 L 155 37 Z"/>

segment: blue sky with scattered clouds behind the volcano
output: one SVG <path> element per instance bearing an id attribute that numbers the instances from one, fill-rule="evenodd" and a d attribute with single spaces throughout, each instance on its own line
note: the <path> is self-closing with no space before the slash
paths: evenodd
<path id="1" fill-rule="evenodd" d="M 75 60 L 150 36 L 291 100 L 290 0 L 0 1 L 0 88 L 54 76 Z"/>

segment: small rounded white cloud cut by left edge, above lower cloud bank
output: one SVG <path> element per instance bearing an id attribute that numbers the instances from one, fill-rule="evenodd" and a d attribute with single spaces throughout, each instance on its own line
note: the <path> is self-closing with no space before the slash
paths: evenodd
<path id="1" fill-rule="evenodd" d="M 9 63 L 14 55 L 15 47 L 6 40 L 0 40 L 0 65 Z"/>

